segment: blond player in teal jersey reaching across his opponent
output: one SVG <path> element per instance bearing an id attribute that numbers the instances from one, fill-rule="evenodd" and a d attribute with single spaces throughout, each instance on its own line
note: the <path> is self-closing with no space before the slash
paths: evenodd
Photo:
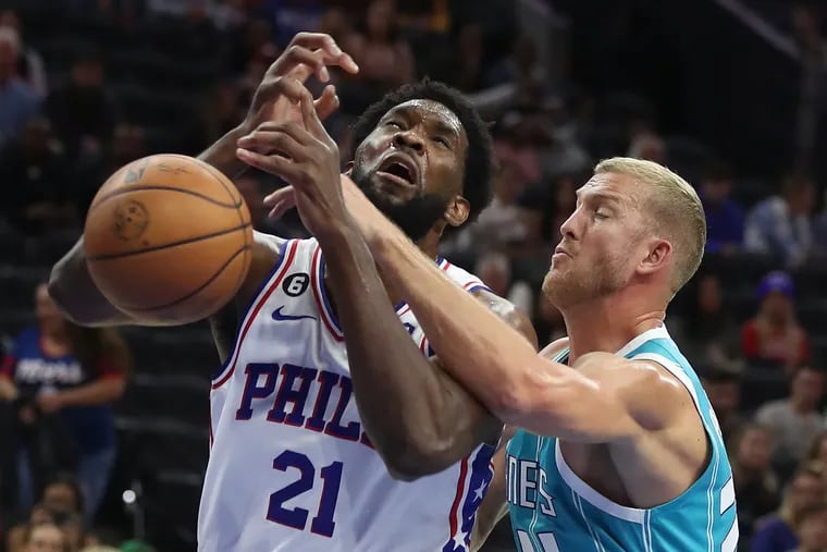
<path id="1" fill-rule="evenodd" d="M 244 157 L 293 184 L 267 199 L 274 216 L 295 204 L 314 232 L 369 248 L 442 368 L 520 428 L 505 438 L 498 463 L 507 467 L 481 515 L 496 518 L 507 505 L 522 552 L 735 552 L 736 495 L 720 428 L 664 324 L 704 250 L 694 189 L 651 161 L 614 158 L 595 167 L 560 228 L 543 283 L 568 336 L 538 355 L 457 290 L 366 198 L 365 184 L 316 170 L 324 148 L 314 142 L 329 138 L 318 122 L 308 123 L 311 101 L 303 98 L 310 132 L 284 130 L 297 140 L 286 158 Z"/>

